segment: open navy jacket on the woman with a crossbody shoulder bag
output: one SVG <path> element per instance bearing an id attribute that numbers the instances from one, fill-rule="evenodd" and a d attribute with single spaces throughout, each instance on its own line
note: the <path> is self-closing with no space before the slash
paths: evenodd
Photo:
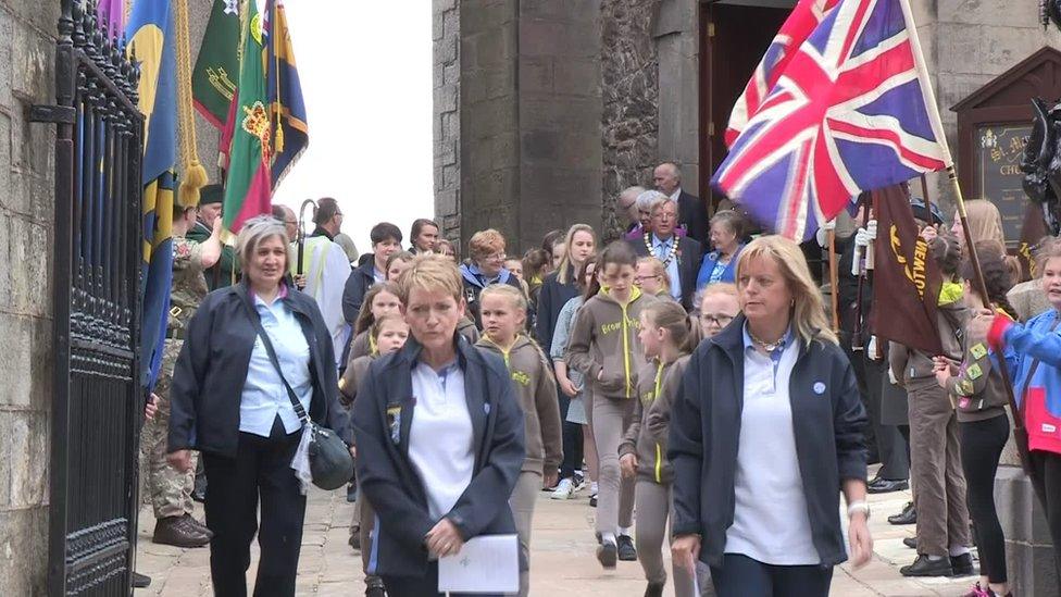
<path id="1" fill-rule="evenodd" d="M 295 313 L 310 346 L 313 397 L 309 415 L 348 443 L 349 424 L 338 400 L 332 333 L 312 297 L 288 288 L 283 300 Z M 239 402 L 258 333 L 246 281 L 207 295 L 188 323 L 170 388 L 167 451 L 196 449 L 235 458 Z M 286 395 L 285 395 L 286 397 Z"/>

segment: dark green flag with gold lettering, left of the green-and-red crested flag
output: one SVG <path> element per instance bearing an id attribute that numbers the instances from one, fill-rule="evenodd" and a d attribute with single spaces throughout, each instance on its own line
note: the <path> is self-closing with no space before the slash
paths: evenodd
<path id="1" fill-rule="evenodd" d="M 225 127 L 239 71 L 239 0 L 214 0 L 199 47 L 191 92 L 196 109 L 210 124 Z"/>

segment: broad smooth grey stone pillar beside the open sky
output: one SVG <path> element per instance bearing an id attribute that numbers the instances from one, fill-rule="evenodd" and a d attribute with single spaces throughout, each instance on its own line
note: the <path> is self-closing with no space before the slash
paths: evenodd
<path id="1" fill-rule="evenodd" d="M 451 97 L 460 104 L 461 188 L 455 199 L 436 192 L 438 213 L 459 213 L 464 239 L 500 229 L 513 253 L 551 228 L 599 228 L 600 0 L 462 0 L 459 13 L 459 91 L 446 89 L 444 69 L 435 109 L 445 113 Z M 442 21 L 445 46 L 445 13 Z M 449 132 L 441 133 L 436 188 L 440 165 L 445 187 L 449 159 L 449 145 L 437 142 Z"/>

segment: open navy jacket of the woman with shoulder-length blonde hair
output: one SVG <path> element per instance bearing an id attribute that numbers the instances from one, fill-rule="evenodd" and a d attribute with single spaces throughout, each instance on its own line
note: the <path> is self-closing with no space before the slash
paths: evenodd
<path id="1" fill-rule="evenodd" d="M 674 467 L 673 533 L 700 535 L 700 560 L 722 565 L 733 525 L 734 477 L 744 405 L 744 325 L 739 315 L 692 353 L 671 411 L 667 458 Z M 789 378 L 796 456 L 821 564 L 847 559 L 840 485 L 865 481 L 865 411 L 850 362 L 826 341 L 801 345 Z M 787 508 L 785 503 L 772 505 Z"/>

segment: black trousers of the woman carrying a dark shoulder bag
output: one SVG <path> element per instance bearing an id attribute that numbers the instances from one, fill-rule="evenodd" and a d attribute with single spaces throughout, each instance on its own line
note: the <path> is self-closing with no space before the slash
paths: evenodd
<path id="1" fill-rule="evenodd" d="M 258 533 L 261 560 L 254 581 L 257 597 L 295 595 L 305 496 L 291 470 L 301 432 L 288 435 L 279 418 L 269 437 L 239 434 L 236 458 L 204 453 L 210 577 L 214 595 L 247 595 L 250 542 Z M 261 496 L 261 528 L 258 502 Z"/>

